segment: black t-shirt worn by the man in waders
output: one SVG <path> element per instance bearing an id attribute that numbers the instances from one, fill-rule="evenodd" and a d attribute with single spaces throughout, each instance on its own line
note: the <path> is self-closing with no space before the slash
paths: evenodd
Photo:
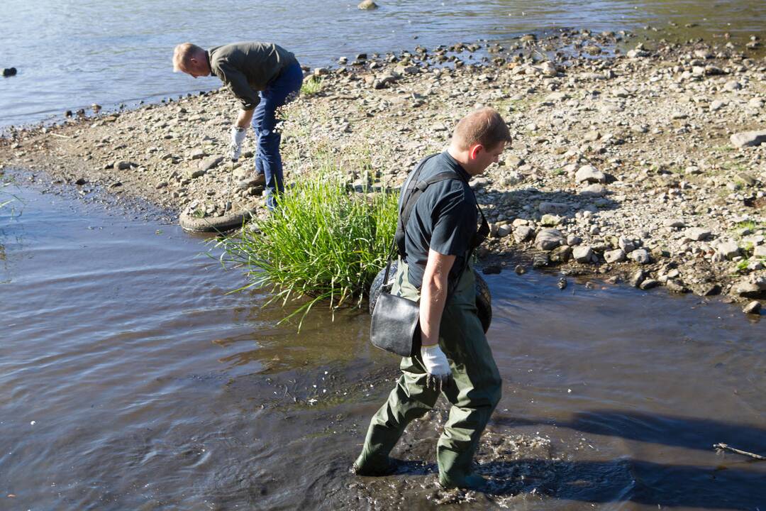
<path id="1" fill-rule="evenodd" d="M 428 260 L 429 248 L 439 254 L 454 255 L 450 282 L 455 282 L 466 264 L 473 235 L 476 234 L 476 199 L 468 180 L 470 175 L 447 151 L 428 159 L 418 181 L 424 181 L 440 172 L 455 172 L 464 179 L 445 179 L 429 185 L 417 198 L 410 219 L 404 226 L 404 247 L 407 251 L 408 280 L 420 288 Z M 409 180 L 402 185 L 404 192 Z M 401 211 L 401 194 L 399 197 Z"/>

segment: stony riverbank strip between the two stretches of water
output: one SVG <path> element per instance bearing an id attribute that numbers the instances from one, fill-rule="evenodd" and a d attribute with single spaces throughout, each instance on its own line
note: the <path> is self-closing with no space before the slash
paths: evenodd
<path id="1" fill-rule="evenodd" d="M 331 158 L 356 185 L 395 187 L 444 148 L 461 116 L 494 106 L 515 142 L 473 180 L 493 223 L 486 271 L 533 264 L 764 298 L 766 146 L 730 137 L 766 124 L 766 61 L 725 42 L 627 39 L 530 35 L 514 47 L 416 48 L 313 70 L 319 91 L 285 113 L 286 181 Z M 263 205 L 252 160 L 225 158 L 236 108 L 212 91 L 16 130 L 0 162 L 215 218 Z"/>

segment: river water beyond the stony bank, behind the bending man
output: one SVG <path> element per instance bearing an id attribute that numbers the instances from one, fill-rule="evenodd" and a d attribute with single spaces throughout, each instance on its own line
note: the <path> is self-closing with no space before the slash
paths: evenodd
<path id="1" fill-rule="evenodd" d="M 376 11 L 356 3 L 3 0 L 0 67 L 18 74 L 0 79 L 0 127 L 61 119 L 64 110 L 92 103 L 110 109 L 219 87 L 212 77 L 172 73 L 172 48 L 183 41 L 274 41 L 319 66 L 358 52 L 507 41 L 561 27 L 635 31 L 673 23 L 674 37 L 724 44 L 724 33 L 738 42 L 763 36 L 766 22 L 766 2 L 752 0 L 381 0 Z"/>

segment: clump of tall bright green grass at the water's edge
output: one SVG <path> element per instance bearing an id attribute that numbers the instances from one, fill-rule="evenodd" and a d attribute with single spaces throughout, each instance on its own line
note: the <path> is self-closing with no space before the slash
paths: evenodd
<path id="1" fill-rule="evenodd" d="M 361 306 L 370 283 L 383 267 L 394 238 L 396 194 L 349 192 L 337 169 L 327 165 L 297 179 L 280 195 L 279 207 L 257 229 L 224 238 L 224 264 L 247 268 L 249 287 L 267 287 L 269 300 L 303 300 L 283 319 L 326 301 L 330 310 Z M 260 232 L 259 232 L 260 231 Z M 300 324 L 298 326 L 300 329 Z"/>

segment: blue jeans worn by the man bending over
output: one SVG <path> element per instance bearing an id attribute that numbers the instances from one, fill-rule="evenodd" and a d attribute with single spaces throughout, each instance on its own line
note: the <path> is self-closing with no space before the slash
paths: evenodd
<path id="1" fill-rule="evenodd" d="M 266 90 L 258 93 L 260 103 L 253 113 L 253 129 L 257 140 L 255 172 L 266 177 L 266 205 L 273 210 L 277 206 L 278 193 L 284 192 L 282 179 L 282 135 L 274 129 L 277 124 L 277 108 L 293 100 L 300 93 L 303 70 L 300 64 L 286 67 L 280 76 L 271 80 Z"/>

